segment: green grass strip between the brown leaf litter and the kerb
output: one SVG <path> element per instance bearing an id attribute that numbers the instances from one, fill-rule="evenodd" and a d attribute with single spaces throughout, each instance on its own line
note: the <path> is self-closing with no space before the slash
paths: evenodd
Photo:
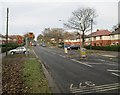
<path id="1" fill-rule="evenodd" d="M 37 58 L 29 58 L 23 65 L 23 80 L 27 93 L 51 93 L 42 65 Z"/>

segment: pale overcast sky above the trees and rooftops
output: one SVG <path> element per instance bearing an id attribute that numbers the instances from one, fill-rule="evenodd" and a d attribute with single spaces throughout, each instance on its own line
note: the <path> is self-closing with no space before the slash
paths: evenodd
<path id="1" fill-rule="evenodd" d="M 6 8 L 9 8 L 9 35 L 34 32 L 37 37 L 45 28 L 64 28 L 63 23 L 80 7 L 96 10 L 93 31 L 111 30 L 118 23 L 119 0 L 2 0 L 0 31 L 6 33 Z M 61 21 L 59 21 L 61 20 Z"/>

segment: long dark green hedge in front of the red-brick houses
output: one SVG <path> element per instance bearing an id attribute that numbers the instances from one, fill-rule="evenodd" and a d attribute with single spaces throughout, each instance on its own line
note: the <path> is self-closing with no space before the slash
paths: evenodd
<path id="1" fill-rule="evenodd" d="M 86 49 L 90 49 L 90 46 L 85 46 Z M 104 50 L 104 51 L 118 51 L 120 52 L 120 45 L 114 46 L 92 46 L 93 50 Z"/>

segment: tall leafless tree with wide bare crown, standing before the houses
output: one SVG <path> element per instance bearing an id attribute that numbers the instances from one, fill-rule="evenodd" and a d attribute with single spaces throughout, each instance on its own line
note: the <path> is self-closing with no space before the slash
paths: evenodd
<path id="1" fill-rule="evenodd" d="M 64 25 L 82 32 L 82 47 L 84 47 L 85 33 L 91 30 L 93 19 L 97 17 L 96 11 L 91 8 L 79 8 L 72 14 L 73 16 Z"/>

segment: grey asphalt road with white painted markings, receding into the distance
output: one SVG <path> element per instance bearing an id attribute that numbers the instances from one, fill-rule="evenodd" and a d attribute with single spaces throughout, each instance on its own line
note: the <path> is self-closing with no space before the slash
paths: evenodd
<path id="1" fill-rule="evenodd" d="M 61 93 L 92 93 L 96 89 L 108 93 L 118 91 L 120 75 L 117 62 L 99 56 L 92 56 L 88 60 L 75 59 L 59 49 L 41 46 L 34 47 L 34 51 L 44 62 Z M 89 82 L 94 84 L 94 88 L 88 89 L 91 87 Z"/>

